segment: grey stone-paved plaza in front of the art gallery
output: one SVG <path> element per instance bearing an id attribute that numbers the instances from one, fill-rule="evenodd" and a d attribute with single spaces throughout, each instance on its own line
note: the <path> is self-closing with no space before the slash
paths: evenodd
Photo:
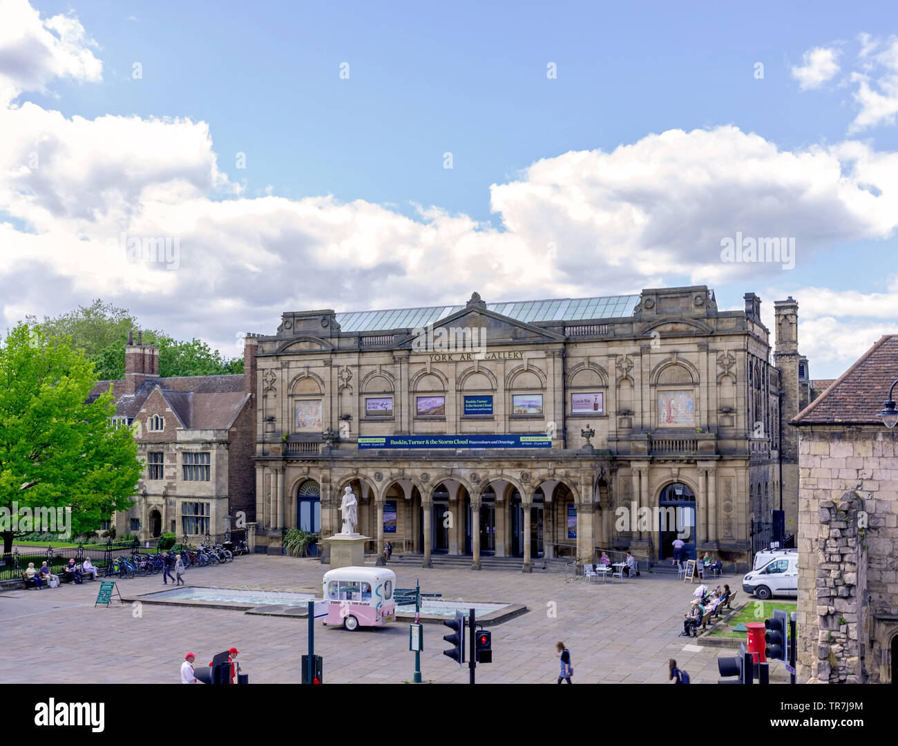
<path id="1" fill-rule="evenodd" d="M 198 587 L 315 591 L 328 569 L 311 559 L 238 557 L 225 566 L 190 569 Z M 553 683 L 559 670 L 555 643 L 571 651 L 575 683 L 666 683 L 675 658 L 695 683 L 718 680 L 717 657 L 732 648 L 701 647 L 677 636 L 694 586 L 672 575 L 625 583 L 565 583 L 557 574 L 471 572 L 394 567 L 399 587 L 442 593 L 446 599 L 523 603 L 529 611 L 492 627 L 494 663 L 478 666 L 480 683 Z M 734 590 L 739 577 L 724 577 Z M 160 575 L 119 582 L 126 598 L 163 590 Z M 118 602 L 93 607 L 99 584 L 63 585 L 40 592 L 0 593 L 4 664 L 0 682 L 177 683 L 185 652 L 205 665 L 235 645 L 252 683 L 298 683 L 307 649 L 306 619 L 264 617 L 239 610 Z M 171 586 L 168 586 L 171 587 Z M 139 612 L 139 616 L 136 613 Z M 425 625 L 423 680 L 462 683 L 468 670 L 443 655 L 448 628 Z M 409 626 L 346 632 L 315 628 L 315 652 L 323 656 L 326 683 L 401 683 L 411 680 L 414 654 Z M 781 663 L 771 681 L 784 682 Z"/>

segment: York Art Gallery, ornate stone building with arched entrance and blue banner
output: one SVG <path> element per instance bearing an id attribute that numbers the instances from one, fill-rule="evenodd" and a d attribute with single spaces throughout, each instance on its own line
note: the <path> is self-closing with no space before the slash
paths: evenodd
<path id="1" fill-rule="evenodd" d="M 339 531 L 348 485 L 367 550 L 389 540 L 424 566 L 490 555 L 528 571 L 595 549 L 657 561 L 678 530 L 693 556 L 746 565 L 774 532 L 794 533 L 797 447 L 784 430 L 811 385 L 797 303 L 776 303 L 773 364 L 761 301 L 744 301 L 718 311 L 701 285 L 286 312 L 276 334 L 246 340 L 257 542 L 279 553 L 284 528 Z M 679 520 L 630 523 L 634 508 Z"/>

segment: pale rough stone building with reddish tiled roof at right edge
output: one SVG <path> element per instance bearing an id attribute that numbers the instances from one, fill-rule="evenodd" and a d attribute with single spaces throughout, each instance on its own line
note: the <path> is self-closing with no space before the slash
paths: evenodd
<path id="1" fill-rule="evenodd" d="M 877 414 L 896 375 L 888 335 L 794 420 L 802 681 L 895 682 L 898 434 Z"/>

